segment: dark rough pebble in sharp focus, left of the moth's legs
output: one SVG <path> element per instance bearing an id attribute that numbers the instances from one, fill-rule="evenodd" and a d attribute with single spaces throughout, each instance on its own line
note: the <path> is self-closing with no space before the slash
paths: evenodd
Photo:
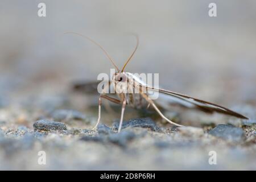
<path id="1" fill-rule="evenodd" d="M 35 131 L 56 131 L 56 130 L 57 131 L 62 131 L 62 130 L 67 130 L 67 127 L 64 123 L 49 121 L 49 120 L 46 120 L 46 119 L 36 121 L 33 126 L 34 126 Z"/>

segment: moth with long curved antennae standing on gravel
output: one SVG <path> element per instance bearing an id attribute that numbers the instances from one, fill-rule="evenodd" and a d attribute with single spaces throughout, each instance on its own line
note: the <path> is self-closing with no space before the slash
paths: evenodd
<path id="1" fill-rule="evenodd" d="M 67 34 L 77 34 L 77 33 L 68 32 Z M 101 100 L 102 99 L 106 99 L 110 102 L 114 102 L 115 104 L 122 105 L 118 133 L 122 129 L 123 115 L 125 114 L 126 106 L 131 106 L 131 107 L 134 107 L 135 109 L 141 108 L 141 107 L 148 108 L 148 107 L 152 106 L 155 109 L 155 111 L 160 115 L 160 117 L 162 117 L 163 119 L 165 119 L 167 122 L 171 123 L 172 125 L 179 126 L 179 127 L 181 127 L 183 125 L 180 125 L 180 124 L 175 123 L 175 122 L 171 121 L 170 119 L 168 119 L 162 113 L 162 111 L 160 111 L 159 106 L 166 108 L 166 106 L 167 106 L 166 103 L 170 102 L 170 103 L 179 104 L 181 106 L 185 106 L 188 108 L 198 109 L 198 110 L 204 111 L 205 113 L 217 112 L 217 113 L 222 113 L 222 114 L 230 115 L 230 116 L 241 118 L 241 119 L 248 119 L 247 117 L 245 117 L 242 114 L 239 114 L 239 113 L 232 111 L 226 107 L 223 107 L 223 106 L 220 106 L 217 104 L 213 104 L 208 101 L 199 100 L 197 98 L 194 98 L 191 96 L 186 96 L 181 93 L 172 92 L 170 90 L 154 88 L 152 86 L 145 84 L 141 79 L 139 79 L 133 73 L 125 72 L 126 65 L 129 63 L 131 58 L 134 56 L 134 53 L 137 51 L 137 48 L 138 48 L 139 38 L 137 35 L 136 35 L 137 44 L 135 46 L 135 49 L 131 53 L 129 58 L 125 61 L 125 64 L 123 65 L 122 69 L 119 69 L 117 67 L 117 65 L 115 65 L 112 57 L 110 57 L 109 53 L 100 44 L 98 44 L 94 40 L 92 40 L 86 36 L 83 36 L 81 34 L 77 34 L 77 35 L 80 35 L 80 36 L 90 40 L 90 42 L 92 42 L 92 43 L 96 44 L 98 47 L 100 47 L 102 49 L 102 51 L 105 53 L 105 55 L 108 57 L 110 62 L 113 64 L 115 69 L 117 70 L 117 72 L 114 73 L 112 80 L 109 81 L 109 84 L 112 84 L 114 86 L 114 89 L 116 91 L 118 98 L 110 97 L 105 93 L 102 93 L 100 95 L 100 97 L 98 99 L 98 120 L 97 120 L 96 125 L 93 127 L 93 130 L 96 130 L 98 124 L 100 123 Z M 128 83 L 128 84 L 125 84 L 127 86 L 127 88 L 121 89 L 119 86 L 117 86 L 121 82 Z M 132 83 L 132 84 L 129 84 L 129 83 Z M 93 83 L 91 83 L 89 85 L 92 86 Z M 84 86 L 86 86 L 86 84 Z M 87 86 L 88 86 L 88 84 L 87 84 Z M 76 88 L 81 88 L 81 87 L 82 87 L 81 85 L 76 86 Z M 123 90 L 127 91 L 130 89 L 137 89 L 137 90 L 139 90 L 139 92 L 138 93 L 127 93 L 127 92 L 123 91 Z M 146 90 L 146 92 L 142 92 L 142 90 Z M 159 98 L 157 100 L 151 100 L 150 96 L 148 95 L 148 92 L 159 92 Z M 164 102 L 162 102 L 163 100 L 164 100 Z"/>

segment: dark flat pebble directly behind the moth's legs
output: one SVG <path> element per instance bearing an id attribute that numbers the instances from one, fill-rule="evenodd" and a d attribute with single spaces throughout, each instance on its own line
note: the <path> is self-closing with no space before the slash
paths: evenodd
<path id="1" fill-rule="evenodd" d="M 119 122 L 115 122 L 113 125 L 113 130 L 118 130 Z M 145 127 L 149 128 L 152 131 L 161 131 L 155 122 L 151 118 L 135 118 L 130 119 L 129 121 L 124 121 L 122 129 L 126 127 Z"/>

